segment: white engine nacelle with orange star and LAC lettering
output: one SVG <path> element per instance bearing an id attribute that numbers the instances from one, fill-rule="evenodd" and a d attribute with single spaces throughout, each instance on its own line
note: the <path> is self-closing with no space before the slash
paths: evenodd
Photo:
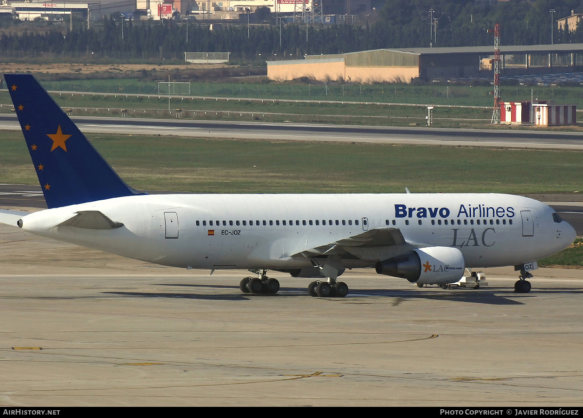
<path id="1" fill-rule="evenodd" d="M 441 285 L 458 282 L 465 270 L 462 251 L 452 247 L 426 247 L 379 261 L 378 274 L 401 277 L 412 283 Z"/>

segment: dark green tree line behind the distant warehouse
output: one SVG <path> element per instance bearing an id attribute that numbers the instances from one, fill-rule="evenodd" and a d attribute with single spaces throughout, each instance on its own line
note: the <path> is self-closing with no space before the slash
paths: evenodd
<path id="1" fill-rule="evenodd" d="M 580 9 L 580 10 L 577 10 Z M 433 12 L 430 12 L 433 10 Z M 555 10 L 550 13 L 550 10 Z M 232 59 L 296 59 L 304 55 L 340 54 L 380 48 L 493 45 L 488 30 L 499 23 L 502 45 L 583 42 L 583 25 L 559 31 L 560 17 L 583 11 L 581 0 L 472 1 L 386 0 L 372 23 L 252 24 L 163 20 L 132 22 L 106 17 L 87 29 L 75 24 L 65 32 L 47 27 L 40 33 L 4 30 L 0 53 L 48 52 L 64 56 L 182 58 L 182 52 L 231 52 Z M 266 22 L 273 16 L 265 16 Z"/>

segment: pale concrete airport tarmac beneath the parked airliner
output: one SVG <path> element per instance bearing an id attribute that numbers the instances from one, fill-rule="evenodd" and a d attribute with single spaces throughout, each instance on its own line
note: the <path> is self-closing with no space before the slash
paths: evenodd
<path id="1" fill-rule="evenodd" d="M 0 225 L 1 406 L 581 406 L 583 270 L 480 289 L 180 270 Z"/>

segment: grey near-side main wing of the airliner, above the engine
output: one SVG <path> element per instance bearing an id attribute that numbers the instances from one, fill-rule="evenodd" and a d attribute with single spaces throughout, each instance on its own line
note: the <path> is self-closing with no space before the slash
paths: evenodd
<path id="1" fill-rule="evenodd" d="M 314 247 L 293 254 L 291 258 L 310 258 L 332 254 L 350 254 L 355 247 L 374 248 L 390 247 L 405 243 L 405 238 L 398 228 L 375 228 L 349 236 L 326 245 Z"/>

